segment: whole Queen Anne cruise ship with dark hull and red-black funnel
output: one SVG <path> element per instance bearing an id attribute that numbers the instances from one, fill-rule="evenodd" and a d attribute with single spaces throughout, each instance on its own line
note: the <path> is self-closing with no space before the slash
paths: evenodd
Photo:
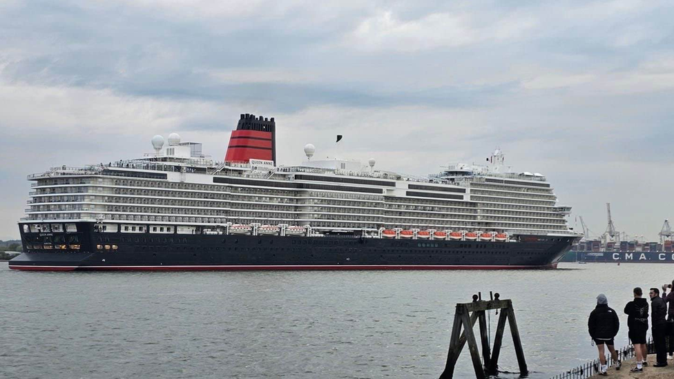
<path id="1" fill-rule="evenodd" d="M 546 177 L 484 164 L 428 177 L 349 159 L 276 162 L 276 121 L 241 115 L 226 156 L 172 133 L 154 152 L 28 175 L 11 269 L 553 269 L 581 235 Z"/>

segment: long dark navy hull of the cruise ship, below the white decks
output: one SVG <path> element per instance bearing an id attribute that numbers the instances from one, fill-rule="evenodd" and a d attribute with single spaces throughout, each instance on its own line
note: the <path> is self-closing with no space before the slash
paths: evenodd
<path id="1" fill-rule="evenodd" d="M 10 261 L 11 269 L 548 269 L 557 266 L 573 242 L 573 237 L 552 236 L 469 242 L 343 235 L 98 233 L 86 222 L 77 224 L 76 233 L 22 230 L 21 238 L 26 253 Z M 71 249 L 75 243 L 79 249 Z"/>

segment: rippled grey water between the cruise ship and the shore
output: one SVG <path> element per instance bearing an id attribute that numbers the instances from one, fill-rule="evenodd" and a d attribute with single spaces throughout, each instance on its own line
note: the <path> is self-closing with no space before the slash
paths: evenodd
<path id="1" fill-rule="evenodd" d="M 530 378 L 549 378 L 595 358 L 599 292 L 622 316 L 622 347 L 633 287 L 671 282 L 673 268 L 32 273 L 0 262 L 0 377 L 438 378 L 455 303 L 493 290 L 513 300 Z M 496 323 L 492 312 L 492 338 Z M 508 333 L 500 364 L 517 371 Z M 474 378 L 467 349 L 454 377 Z"/>

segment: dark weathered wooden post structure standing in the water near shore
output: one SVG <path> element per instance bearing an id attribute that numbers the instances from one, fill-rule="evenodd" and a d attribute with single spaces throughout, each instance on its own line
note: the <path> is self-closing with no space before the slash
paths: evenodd
<path id="1" fill-rule="evenodd" d="M 473 296 L 473 302 L 456 304 L 454 313 L 454 325 L 452 326 L 452 337 L 450 339 L 450 349 L 447 351 L 447 363 L 440 379 L 450 379 L 454 376 L 454 367 L 456 360 L 459 359 L 461 350 L 468 342 L 468 350 L 472 358 L 473 368 L 477 379 L 486 379 L 487 376 L 496 375 L 499 367 L 499 356 L 501 355 L 501 344 L 503 343 L 503 332 L 505 331 L 505 322 L 508 321 L 510 334 L 512 335 L 512 344 L 514 345 L 519 373 L 521 376 L 528 374 L 526 360 L 524 359 L 524 349 L 522 341 L 519 338 L 517 321 L 515 320 L 514 309 L 512 309 L 511 300 L 499 300 L 499 294 L 494 294 L 494 300 L 477 300 L 477 295 Z M 491 309 L 497 309 L 501 312 L 499 315 L 499 324 L 497 325 L 496 336 L 494 336 L 494 349 L 490 351 L 489 336 L 487 329 L 487 320 L 485 312 Z M 472 314 L 471 314 L 472 312 Z M 480 360 L 478 344 L 475 340 L 473 327 L 475 322 L 480 324 L 480 340 L 482 345 L 482 356 L 484 362 Z M 463 333 L 461 332 L 463 329 Z"/>

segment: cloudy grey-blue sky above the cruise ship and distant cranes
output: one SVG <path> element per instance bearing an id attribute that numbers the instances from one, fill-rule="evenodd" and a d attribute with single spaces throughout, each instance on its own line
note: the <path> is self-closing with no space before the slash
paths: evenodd
<path id="1" fill-rule="evenodd" d="M 672 1 L 0 1 L 0 239 L 26 175 L 180 133 L 222 159 L 240 113 L 278 160 L 424 175 L 497 146 L 590 230 L 674 218 Z"/>

